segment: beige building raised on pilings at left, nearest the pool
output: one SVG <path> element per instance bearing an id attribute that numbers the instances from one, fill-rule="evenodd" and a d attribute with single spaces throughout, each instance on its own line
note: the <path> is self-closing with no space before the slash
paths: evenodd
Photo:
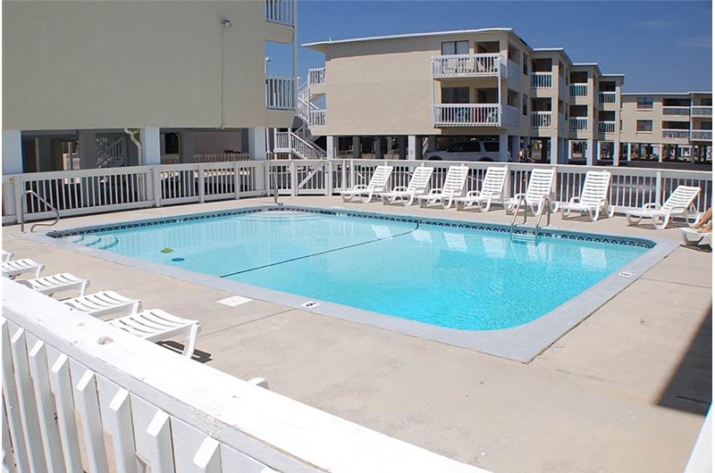
<path id="1" fill-rule="evenodd" d="M 294 0 L 4 2 L 4 174 L 157 164 L 167 152 L 265 159 L 266 129 L 295 114 L 295 10 Z M 273 45 L 292 48 L 282 64 L 292 74 L 269 73 Z"/>

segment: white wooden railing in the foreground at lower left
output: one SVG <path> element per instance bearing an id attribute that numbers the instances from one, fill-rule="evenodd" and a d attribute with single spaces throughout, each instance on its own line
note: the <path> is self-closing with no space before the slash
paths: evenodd
<path id="1" fill-rule="evenodd" d="M 4 471 L 485 471 L 2 288 Z"/>

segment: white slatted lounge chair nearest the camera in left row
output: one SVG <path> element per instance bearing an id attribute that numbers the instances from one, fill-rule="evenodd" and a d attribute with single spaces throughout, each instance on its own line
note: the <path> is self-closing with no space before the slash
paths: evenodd
<path id="1" fill-rule="evenodd" d="M 182 319 L 161 309 L 140 311 L 119 319 L 107 320 L 107 323 L 149 342 L 183 335 L 184 351 L 181 354 L 189 358 L 194 354 L 196 337 L 201 329 L 198 320 Z"/>

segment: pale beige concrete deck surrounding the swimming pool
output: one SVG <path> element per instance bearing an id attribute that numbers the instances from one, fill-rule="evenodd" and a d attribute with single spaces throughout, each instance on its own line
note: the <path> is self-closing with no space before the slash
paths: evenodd
<path id="1" fill-rule="evenodd" d="M 509 223 L 490 212 L 282 197 L 285 204 Z M 272 204 L 241 199 L 61 220 L 55 228 Z M 529 219 L 534 223 L 534 218 Z M 616 216 L 551 227 L 680 239 L 678 228 L 629 228 Z M 53 228 L 53 229 L 55 229 Z M 39 227 L 38 233 L 46 227 Z M 89 278 L 199 319 L 198 358 L 273 392 L 458 461 L 507 472 L 679 472 L 712 393 L 712 253 L 680 247 L 529 363 L 275 303 L 216 303 L 231 293 L 105 261 L 3 228 L 3 248 L 43 274 Z M 330 284 L 326 281 L 326 284 Z"/>

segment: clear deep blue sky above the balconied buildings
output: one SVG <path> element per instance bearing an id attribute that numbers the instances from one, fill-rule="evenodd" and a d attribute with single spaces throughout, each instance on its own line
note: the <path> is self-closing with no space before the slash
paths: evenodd
<path id="1" fill-rule="evenodd" d="M 299 0 L 298 8 L 300 45 L 508 27 L 529 46 L 564 47 L 574 62 L 626 74 L 626 92 L 712 89 L 711 2 Z M 323 65 L 323 54 L 299 47 L 301 82 Z"/>

